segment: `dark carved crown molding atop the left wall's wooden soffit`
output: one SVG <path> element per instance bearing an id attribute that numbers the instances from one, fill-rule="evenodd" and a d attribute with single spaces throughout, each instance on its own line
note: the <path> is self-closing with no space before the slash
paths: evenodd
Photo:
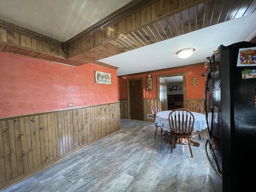
<path id="1" fill-rule="evenodd" d="M 0 28 L 3 28 L 7 31 L 11 31 L 14 33 L 22 34 L 25 36 L 29 36 L 31 38 L 35 38 L 40 41 L 48 42 L 50 44 L 55 44 L 58 46 L 62 46 L 63 42 L 58 41 L 56 39 L 50 38 L 48 36 L 42 35 L 40 33 L 34 32 L 32 30 L 20 27 L 18 25 L 14 25 L 12 23 L 6 22 L 4 20 L 0 20 Z"/>

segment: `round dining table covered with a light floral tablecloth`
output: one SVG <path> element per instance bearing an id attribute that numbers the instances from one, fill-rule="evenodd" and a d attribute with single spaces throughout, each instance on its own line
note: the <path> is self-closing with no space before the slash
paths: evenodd
<path id="1" fill-rule="evenodd" d="M 163 130 L 170 132 L 169 114 L 172 110 L 160 111 L 156 113 L 156 125 L 162 127 Z M 198 112 L 191 112 L 194 115 L 194 128 L 193 132 L 202 131 L 206 128 L 205 115 Z M 195 146 L 200 146 L 200 143 L 192 139 L 191 143 Z"/>

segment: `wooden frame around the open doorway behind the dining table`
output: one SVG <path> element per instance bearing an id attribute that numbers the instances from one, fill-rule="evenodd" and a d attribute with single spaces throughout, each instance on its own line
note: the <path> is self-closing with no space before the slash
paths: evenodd
<path id="1" fill-rule="evenodd" d="M 179 73 L 168 73 L 164 75 L 156 76 L 156 86 L 157 86 L 157 100 L 160 102 L 160 77 L 172 77 L 172 76 L 179 76 L 182 75 L 183 77 L 183 107 L 186 106 L 186 72 L 179 72 Z M 168 107 L 168 106 L 167 106 Z"/>

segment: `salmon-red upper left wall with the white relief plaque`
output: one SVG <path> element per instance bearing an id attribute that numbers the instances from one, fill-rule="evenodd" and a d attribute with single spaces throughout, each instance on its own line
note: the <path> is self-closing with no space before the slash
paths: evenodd
<path id="1" fill-rule="evenodd" d="M 0 118 L 118 102 L 117 70 L 96 64 L 66 66 L 0 52 Z M 111 74 L 95 84 L 94 70 Z"/>

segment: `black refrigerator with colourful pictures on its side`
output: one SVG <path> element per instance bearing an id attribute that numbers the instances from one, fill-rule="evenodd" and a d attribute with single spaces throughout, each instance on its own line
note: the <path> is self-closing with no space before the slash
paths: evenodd
<path id="1" fill-rule="evenodd" d="M 206 156 L 215 192 L 256 191 L 256 43 L 220 45 L 207 58 Z"/>

